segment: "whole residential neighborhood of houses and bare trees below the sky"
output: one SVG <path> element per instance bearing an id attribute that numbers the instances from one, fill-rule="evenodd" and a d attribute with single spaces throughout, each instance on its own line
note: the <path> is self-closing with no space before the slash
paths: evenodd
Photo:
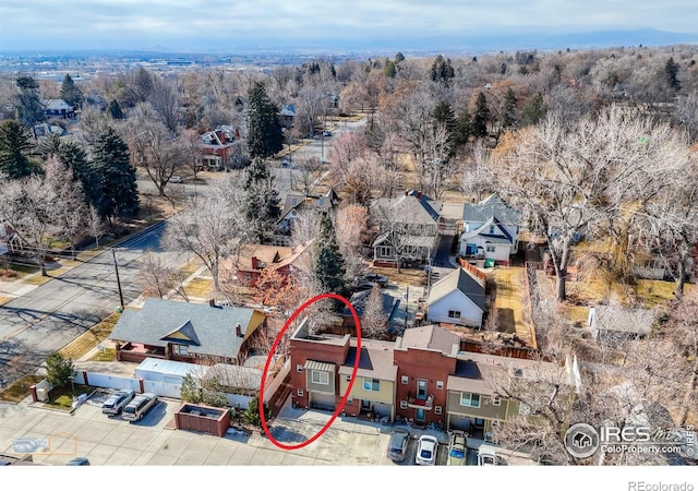
<path id="1" fill-rule="evenodd" d="M 698 465 L 698 49 L 497 51 L 0 71 L 0 464 Z"/>

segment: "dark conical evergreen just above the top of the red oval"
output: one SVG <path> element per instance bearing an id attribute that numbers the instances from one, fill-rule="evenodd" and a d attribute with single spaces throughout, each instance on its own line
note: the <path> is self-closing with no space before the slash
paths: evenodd
<path id="1" fill-rule="evenodd" d="M 345 259 L 339 252 L 335 226 L 329 215 L 323 215 L 320 219 L 320 237 L 315 246 L 315 261 L 313 274 L 323 291 L 344 295 Z"/>

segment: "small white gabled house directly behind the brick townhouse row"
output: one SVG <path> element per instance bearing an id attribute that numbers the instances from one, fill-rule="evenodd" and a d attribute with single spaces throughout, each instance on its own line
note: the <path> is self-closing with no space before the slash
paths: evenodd
<path id="1" fill-rule="evenodd" d="M 429 322 L 480 327 L 485 310 L 484 278 L 476 278 L 459 267 L 440 279 L 429 292 Z"/>

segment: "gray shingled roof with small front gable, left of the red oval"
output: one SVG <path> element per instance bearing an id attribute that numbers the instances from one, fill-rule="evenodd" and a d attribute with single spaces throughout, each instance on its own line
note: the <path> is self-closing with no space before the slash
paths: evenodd
<path id="1" fill-rule="evenodd" d="M 110 338 L 160 347 L 176 343 L 188 345 L 192 354 L 236 358 L 243 342 L 236 325 L 246 335 L 263 319 L 253 309 L 149 298 L 142 309 L 123 311 Z"/>

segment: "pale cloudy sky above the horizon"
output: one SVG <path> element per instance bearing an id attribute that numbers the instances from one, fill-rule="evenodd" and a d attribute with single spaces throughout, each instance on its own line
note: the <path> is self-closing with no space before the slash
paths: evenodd
<path id="1" fill-rule="evenodd" d="M 696 0 L 0 0 L 0 50 L 220 49 L 654 28 L 698 33 Z M 222 46 L 221 46 L 222 45 Z"/>

